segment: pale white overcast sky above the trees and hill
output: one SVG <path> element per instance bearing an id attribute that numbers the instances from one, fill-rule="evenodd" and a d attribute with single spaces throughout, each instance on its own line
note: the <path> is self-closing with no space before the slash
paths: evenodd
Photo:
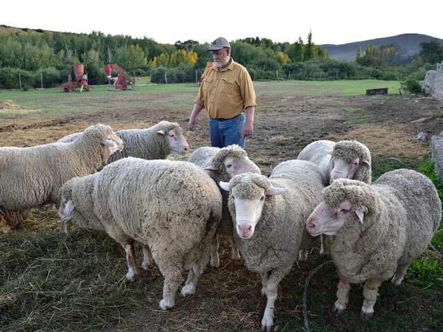
<path id="1" fill-rule="evenodd" d="M 420 7 L 419 4 L 424 6 Z M 443 39 L 443 0 L 3 0 L 0 24 L 67 33 L 148 37 L 162 44 L 246 37 L 346 44 L 403 33 Z"/>

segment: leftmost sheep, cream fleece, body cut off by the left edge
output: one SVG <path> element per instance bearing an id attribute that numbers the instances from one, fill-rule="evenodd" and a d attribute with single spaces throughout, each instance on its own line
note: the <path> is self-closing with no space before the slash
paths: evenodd
<path id="1" fill-rule="evenodd" d="M 57 203 L 63 183 L 97 172 L 123 146 L 111 127 L 96 124 L 70 143 L 0 147 L 0 210 Z"/>

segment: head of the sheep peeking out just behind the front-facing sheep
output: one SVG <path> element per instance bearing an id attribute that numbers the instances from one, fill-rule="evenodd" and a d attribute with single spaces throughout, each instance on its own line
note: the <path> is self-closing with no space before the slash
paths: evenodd
<path id="1" fill-rule="evenodd" d="M 233 178 L 242 173 L 262 173 L 260 168 L 248 158 L 246 151 L 238 145 L 229 145 L 228 147 L 219 149 L 213 158 L 211 158 L 210 166 L 205 167 L 205 169 L 226 175 L 224 176 L 226 181 L 228 178 Z"/>

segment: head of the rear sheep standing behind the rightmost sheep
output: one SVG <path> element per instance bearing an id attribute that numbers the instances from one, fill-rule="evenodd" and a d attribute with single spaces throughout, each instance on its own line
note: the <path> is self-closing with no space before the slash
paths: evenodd
<path id="1" fill-rule="evenodd" d="M 332 151 L 332 181 L 337 178 L 353 178 L 371 183 L 371 155 L 368 147 L 356 140 L 342 140 Z"/>

